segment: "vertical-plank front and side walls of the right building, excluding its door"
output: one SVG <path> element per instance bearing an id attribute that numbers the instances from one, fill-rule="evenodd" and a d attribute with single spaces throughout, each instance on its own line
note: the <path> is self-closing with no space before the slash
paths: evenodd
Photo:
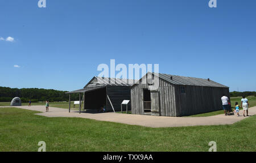
<path id="1" fill-rule="evenodd" d="M 142 84 L 143 78 L 131 87 L 132 114 L 144 114 L 143 89 L 148 89 L 148 85 Z M 185 93 L 181 93 L 181 87 Z M 229 97 L 229 88 L 172 85 L 162 79 L 159 79 L 158 91 L 160 115 L 172 117 L 221 110 L 222 94 Z"/>

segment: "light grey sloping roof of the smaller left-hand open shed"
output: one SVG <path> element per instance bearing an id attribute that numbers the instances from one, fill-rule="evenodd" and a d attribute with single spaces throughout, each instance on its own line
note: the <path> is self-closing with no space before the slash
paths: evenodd
<path id="1" fill-rule="evenodd" d="M 118 78 L 102 78 L 94 76 L 92 80 L 89 81 L 86 87 L 95 87 L 96 85 L 113 85 L 113 86 L 127 86 L 131 87 L 136 83 L 137 80 L 134 79 L 118 79 Z"/>

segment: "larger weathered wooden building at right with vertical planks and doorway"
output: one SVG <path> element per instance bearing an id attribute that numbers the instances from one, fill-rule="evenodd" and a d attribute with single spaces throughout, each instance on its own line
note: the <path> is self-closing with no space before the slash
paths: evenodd
<path id="1" fill-rule="evenodd" d="M 132 114 L 180 117 L 222 109 L 229 87 L 210 79 L 168 74 L 143 76 L 131 87 Z"/>

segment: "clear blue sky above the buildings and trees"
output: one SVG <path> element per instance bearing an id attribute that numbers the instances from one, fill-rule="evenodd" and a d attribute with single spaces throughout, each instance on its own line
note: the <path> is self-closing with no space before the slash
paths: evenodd
<path id="1" fill-rule="evenodd" d="M 256 91 L 256 1 L 208 2 L 0 0 L 0 86 L 72 91 L 115 59 Z"/>

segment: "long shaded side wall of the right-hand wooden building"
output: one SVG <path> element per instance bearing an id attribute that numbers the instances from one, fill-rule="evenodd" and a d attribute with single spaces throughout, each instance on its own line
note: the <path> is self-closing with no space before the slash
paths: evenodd
<path id="1" fill-rule="evenodd" d="M 229 97 L 229 88 L 175 85 L 176 116 L 221 110 L 222 93 Z"/>

